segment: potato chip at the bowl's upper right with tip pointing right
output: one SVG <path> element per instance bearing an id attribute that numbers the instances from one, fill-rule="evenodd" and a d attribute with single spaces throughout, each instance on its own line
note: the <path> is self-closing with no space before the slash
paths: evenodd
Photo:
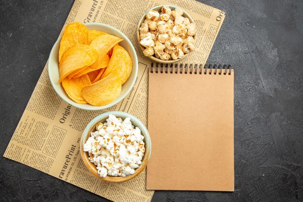
<path id="1" fill-rule="evenodd" d="M 94 47 L 98 54 L 99 58 L 103 58 L 104 55 L 115 45 L 117 45 L 119 42 L 123 41 L 123 39 L 113 36 L 110 34 L 103 34 L 95 38 L 91 42 L 91 46 Z"/>

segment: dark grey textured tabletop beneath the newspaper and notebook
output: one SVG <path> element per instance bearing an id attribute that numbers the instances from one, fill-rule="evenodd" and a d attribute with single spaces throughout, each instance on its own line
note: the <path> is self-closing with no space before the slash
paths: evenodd
<path id="1" fill-rule="evenodd" d="M 235 69 L 235 191 L 152 202 L 303 202 L 303 2 L 203 2 L 227 14 L 208 63 Z M 1 202 L 108 201 L 2 157 L 72 4 L 0 0 Z"/>

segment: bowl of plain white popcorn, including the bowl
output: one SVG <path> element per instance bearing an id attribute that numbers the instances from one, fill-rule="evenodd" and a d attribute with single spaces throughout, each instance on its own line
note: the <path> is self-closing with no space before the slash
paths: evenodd
<path id="1" fill-rule="evenodd" d="M 85 166 L 107 182 L 124 182 L 140 174 L 151 156 L 146 127 L 131 114 L 110 111 L 86 126 L 80 153 Z"/>

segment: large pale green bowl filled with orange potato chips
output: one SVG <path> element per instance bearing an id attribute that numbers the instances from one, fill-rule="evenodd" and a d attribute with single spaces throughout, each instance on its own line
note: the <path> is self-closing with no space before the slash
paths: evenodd
<path id="1" fill-rule="evenodd" d="M 119 30 L 102 23 L 72 22 L 58 38 L 48 59 L 56 93 L 80 109 L 107 109 L 135 84 L 135 48 Z"/>

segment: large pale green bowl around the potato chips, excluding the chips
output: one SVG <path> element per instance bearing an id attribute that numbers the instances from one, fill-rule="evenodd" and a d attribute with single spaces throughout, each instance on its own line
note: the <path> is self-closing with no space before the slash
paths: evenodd
<path id="1" fill-rule="evenodd" d="M 135 84 L 137 73 L 138 73 L 138 59 L 136 55 L 136 50 L 133 47 L 132 43 L 130 40 L 119 30 L 117 30 L 114 27 L 111 27 L 106 24 L 102 23 L 86 23 L 84 24 L 88 29 L 90 30 L 98 30 L 98 31 L 104 31 L 106 33 L 115 35 L 123 39 L 122 42 L 119 43 L 121 47 L 124 47 L 127 52 L 129 53 L 130 57 L 132 58 L 133 61 L 133 69 L 132 72 L 127 79 L 127 81 L 122 85 L 122 91 L 120 95 L 111 103 L 96 107 L 92 106 L 90 104 L 78 104 L 75 101 L 73 101 L 69 96 L 65 93 L 63 87 L 61 84 L 58 83 L 59 80 L 59 48 L 60 48 L 60 42 L 61 42 L 61 37 L 58 38 L 56 41 L 54 47 L 52 48 L 49 59 L 48 59 L 48 76 L 50 79 L 50 82 L 52 86 L 54 87 L 56 93 L 67 103 L 71 104 L 72 106 L 75 106 L 76 108 L 80 109 L 86 109 L 86 110 L 101 110 L 101 109 L 107 109 L 110 108 L 114 105 L 116 105 L 118 102 L 120 102 L 132 89 L 132 87 Z"/>

